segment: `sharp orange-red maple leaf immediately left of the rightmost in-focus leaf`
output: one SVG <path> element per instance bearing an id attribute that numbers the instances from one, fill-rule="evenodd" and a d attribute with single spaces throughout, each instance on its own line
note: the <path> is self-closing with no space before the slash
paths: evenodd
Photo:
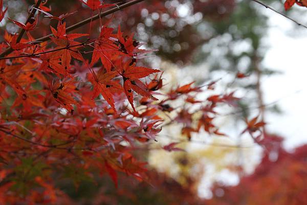
<path id="1" fill-rule="evenodd" d="M 93 99 L 101 94 L 105 101 L 111 105 L 115 111 L 113 94 L 123 92 L 122 86 L 117 81 L 112 80 L 116 75 L 118 75 L 116 71 L 104 73 L 103 69 L 100 69 L 97 75 L 94 71 L 92 75 L 87 75 L 87 79 L 94 85 Z"/>

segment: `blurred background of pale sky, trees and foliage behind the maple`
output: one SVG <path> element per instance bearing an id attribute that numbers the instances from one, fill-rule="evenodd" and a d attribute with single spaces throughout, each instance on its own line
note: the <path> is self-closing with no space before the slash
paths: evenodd
<path id="1" fill-rule="evenodd" d="M 32 3 L 4 1 L 7 17 L 25 21 Z M 283 1 L 264 3 L 307 25 L 306 8 L 294 6 L 284 12 Z M 56 8 L 56 16 L 77 11 L 65 19 L 69 25 L 90 13 L 80 10 L 84 6 L 75 0 L 49 0 L 46 5 Z M 216 123 L 227 136 L 204 132 L 186 141 L 181 127 L 172 123 L 163 128 L 158 142 L 149 145 L 151 149 L 137 150 L 148 161 L 148 181 L 122 175 L 118 189 L 108 177 L 94 184 L 80 179 L 78 189 L 71 181 L 59 182 L 73 198 L 71 204 L 307 203 L 307 29 L 249 0 L 146 0 L 103 20 L 111 18 L 109 26 L 135 32 L 142 48 L 152 50 L 142 62 L 164 71 L 165 89 L 217 81 L 214 92 L 234 91 L 242 100 L 219 110 Z M 48 31 L 44 28 L 50 24 L 55 27 L 56 22 L 43 18 L 39 28 Z M 18 31 L 7 19 L 0 26 L 10 33 Z M 97 29 L 91 35 L 98 34 Z M 237 73 L 246 77 L 237 80 Z M 257 115 L 267 122 L 265 148 L 240 134 L 244 119 Z M 171 113 L 166 121 L 168 117 Z M 171 142 L 180 142 L 178 147 L 185 151 L 155 149 Z"/>

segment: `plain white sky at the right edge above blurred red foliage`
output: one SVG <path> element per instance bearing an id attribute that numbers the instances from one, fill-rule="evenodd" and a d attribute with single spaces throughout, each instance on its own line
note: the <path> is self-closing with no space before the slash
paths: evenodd
<path id="1" fill-rule="evenodd" d="M 291 149 L 307 143 L 307 29 L 298 31 L 289 19 L 264 10 L 269 16 L 266 42 L 270 47 L 263 63 L 283 73 L 262 80 L 265 102 L 278 101 L 283 111 L 281 115 L 266 116 L 267 128 L 286 138 L 284 146 Z M 303 19 L 298 21 L 303 23 Z"/>

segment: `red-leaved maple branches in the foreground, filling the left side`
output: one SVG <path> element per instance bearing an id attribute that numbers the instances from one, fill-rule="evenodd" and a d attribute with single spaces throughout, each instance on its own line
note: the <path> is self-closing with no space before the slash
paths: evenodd
<path id="1" fill-rule="evenodd" d="M 216 108 L 238 106 L 234 92 L 197 99 L 217 81 L 164 89 L 163 72 L 141 60 L 154 50 L 145 50 L 125 21 L 112 25 L 110 14 L 135 6 L 126 15 L 137 17 L 142 1 L 76 1 L 72 9 L 78 11 L 57 13 L 47 1 L 36 0 L 25 22 L 6 19 L 19 31 L 1 34 L 1 204 L 65 204 L 70 199 L 61 180 L 71 180 L 76 189 L 103 174 L 115 187 L 121 173 L 148 181 L 146 162 L 134 150 L 155 142 L 173 122 L 182 125 L 187 140 L 200 131 L 224 135 L 214 124 Z M 233 8 L 233 1 L 227 5 Z M 158 1 L 148 9 L 162 7 Z M 0 21 L 7 11 L 0 0 Z M 237 73 L 234 79 L 245 77 Z M 265 125 L 257 120 L 246 120 L 243 131 L 256 142 Z M 183 151 L 177 145 L 161 149 Z"/>

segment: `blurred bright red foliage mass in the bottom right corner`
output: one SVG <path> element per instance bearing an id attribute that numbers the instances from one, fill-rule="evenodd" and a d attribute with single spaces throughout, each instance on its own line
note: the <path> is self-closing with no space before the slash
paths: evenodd
<path id="1" fill-rule="evenodd" d="M 266 142 L 270 143 L 270 147 L 267 147 L 265 156 L 255 172 L 243 177 L 235 187 L 216 185 L 213 189 L 214 197 L 206 204 L 298 205 L 307 203 L 307 145 L 300 146 L 289 153 L 281 147 L 282 139 L 278 136 L 267 135 Z"/>

